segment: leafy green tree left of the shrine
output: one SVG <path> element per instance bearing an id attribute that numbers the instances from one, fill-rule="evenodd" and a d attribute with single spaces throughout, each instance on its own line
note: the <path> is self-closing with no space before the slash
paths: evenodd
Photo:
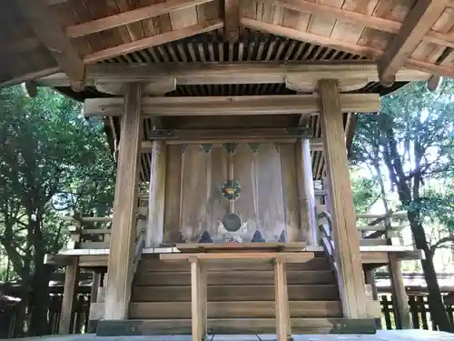
<path id="1" fill-rule="evenodd" d="M 32 99 L 15 86 L 0 91 L 0 107 L 0 244 L 22 285 L 21 318 L 28 298 L 29 334 L 43 335 L 44 255 L 64 243 L 57 211 L 109 212 L 114 160 L 103 125 L 84 120 L 80 104 L 63 95 L 40 89 Z M 30 288 L 39 294 L 26 297 Z"/>

